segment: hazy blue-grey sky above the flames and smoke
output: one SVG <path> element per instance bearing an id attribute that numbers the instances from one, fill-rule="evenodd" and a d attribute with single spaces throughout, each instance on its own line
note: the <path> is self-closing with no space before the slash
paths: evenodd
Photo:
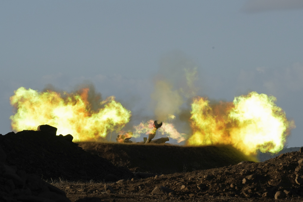
<path id="1" fill-rule="evenodd" d="M 91 82 L 132 118 L 148 116 L 161 64 L 183 58 L 197 66 L 197 95 L 274 95 L 296 123 L 288 145 L 300 147 L 302 9 L 300 0 L 2 1 L 0 133 L 12 130 L 9 97 L 21 86 Z"/>

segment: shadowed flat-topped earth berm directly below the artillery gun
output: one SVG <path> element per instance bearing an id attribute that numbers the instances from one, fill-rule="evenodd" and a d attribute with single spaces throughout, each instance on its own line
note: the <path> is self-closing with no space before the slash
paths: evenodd
<path id="1" fill-rule="evenodd" d="M 85 151 L 106 158 L 116 166 L 126 166 L 133 172 L 171 174 L 235 165 L 241 161 L 252 160 L 227 145 L 179 147 L 170 144 L 96 142 L 78 144 Z"/>

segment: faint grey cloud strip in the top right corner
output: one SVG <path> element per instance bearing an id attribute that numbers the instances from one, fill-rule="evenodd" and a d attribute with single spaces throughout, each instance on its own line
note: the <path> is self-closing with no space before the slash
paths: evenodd
<path id="1" fill-rule="evenodd" d="M 242 10 L 247 13 L 267 12 L 274 10 L 303 9 L 302 0 L 248 0 Z"/>

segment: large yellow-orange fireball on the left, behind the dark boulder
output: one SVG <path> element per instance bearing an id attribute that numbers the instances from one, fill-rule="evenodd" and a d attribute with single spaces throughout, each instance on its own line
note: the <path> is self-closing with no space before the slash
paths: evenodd
<path id="1" fill-rule="evenodd" d="M 119 131 L 129 122 L 131 111 L 111 96 L 100 103 L 97 111 L 87 101 L 88 88 L 80 93 L 61 96 L 54 91 L 38 92 L 18 88 L 10 98 L 17 109 L 12 115 L 12 129 L 36 130 L 38 125 L 48 124 L 58 128 L 57 134 L 72 134 L 75 141 L 98 140 L 108 131 Z M 101 105 L 102 108 L 101 108 Z"/>

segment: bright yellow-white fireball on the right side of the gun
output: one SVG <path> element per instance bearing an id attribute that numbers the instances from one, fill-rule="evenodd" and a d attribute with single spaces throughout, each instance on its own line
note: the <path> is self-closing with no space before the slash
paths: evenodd
<path id="1" fill-rule="evenodd" d="M 188 145 L 231 144 L 245 154 L 277 153 L 285 144 L 294 121 L 275 104 L 276 98 L 251 92 L 235 97 L 233 103 L 211 105 L 194 98 L 191 105 L 193 135 Z"/>

